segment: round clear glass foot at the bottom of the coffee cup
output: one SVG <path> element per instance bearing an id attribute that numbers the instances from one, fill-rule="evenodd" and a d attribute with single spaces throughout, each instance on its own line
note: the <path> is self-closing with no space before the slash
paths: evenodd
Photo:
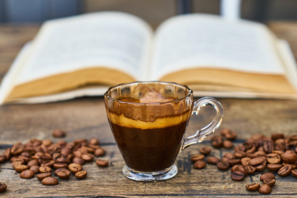
<path id="1" fill-rule="evenodd" d="M 131 180 L 156 182 L 156 181 L 168 180 L 174 177 L 177 174 L 177 167 L 176 165 L 172 165 L 168 169 L 165 169 L 164 171 L 139 172 L 139 171 L 130 169 L 128 166 L 124 166 L 123 174 L 125 177 Z"/>

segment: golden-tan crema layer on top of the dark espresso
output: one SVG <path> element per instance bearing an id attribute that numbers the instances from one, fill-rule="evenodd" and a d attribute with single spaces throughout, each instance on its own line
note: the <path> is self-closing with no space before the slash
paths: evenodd
<path id="1" fill-rule="evenodd" d="M 132 120 L 125 117 L 123 114 L 117 115 L 109 113 L 110 122 L 128 128 L 140 128 L 140 129 L 154 129 L 164 128 L 181 124 L 189 119 L 190 113 L 187 111 L 184 114 L 180 114 L 174 117 L 161 117 L 157 118 L 154 122 L 144 122 L 142 120 Z"/>

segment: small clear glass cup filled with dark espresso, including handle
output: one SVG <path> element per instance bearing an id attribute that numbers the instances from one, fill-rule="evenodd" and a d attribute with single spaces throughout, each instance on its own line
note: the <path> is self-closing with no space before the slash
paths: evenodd
<path id="1" fill-rule="evenodd" d="M 105 108 L 124 158 L 125 177 L 159 181 L 174 177 L 179 152 L 213 133 L 223 119 L 222 105 L 214 98 L 193 101 L 189 87 L 161 81 L 132 82 L 110 87 L 104 94 Z M 216 116 L 206 127 L 185 138 L 191 115 L 206 105 Z"/>

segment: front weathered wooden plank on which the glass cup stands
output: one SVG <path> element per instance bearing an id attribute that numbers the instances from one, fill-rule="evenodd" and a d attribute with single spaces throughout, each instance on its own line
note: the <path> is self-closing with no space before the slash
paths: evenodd
<path id="1" fill-rule="evenodd" d="M 59 197 L 59 196 L 111 196 L 111 197 L 138 197 L 144 195 L 152 196 L 250 196 L 259 195 L 258 192 L 247 191 L 245 185 L 248 183 L 260 183 L 261 173 L 247 176 L 243 181 L 234 181 L 230 178 L 230 169 L 218 170 L 215 165 L 207 164 L 204 169 L 193 169 L 189 157 L 197 154 L 202 146 L 210 146 L 203 143 L 189 147 L 178 155 L 176 165 L 178 174 L 170 180 L 144 183 L 125 178 L 121 169 L 124 166 L 122 156 L 116 145 L 106 145 L 107 151 L 102 157 L 110 161 L 107 168 L 99 168 L 97 165 L 87 163 L 83 169 L 88 175 L 83 180 L 76 179 L 73 175 L 69 180 L 59 179 L 57 186 L 43 186 L 36 177 L 31 179 L 20 179 L 10 163 L 1 164 L 1 183 L 7 184 L 4 197 Z M 210 156 L 221 158 L 228 149 L 214 149 Z M 0 151 L 2 152 L 2 150 Z M 297 178 L 293 176 L 279 177 L 276 175 L 276 184 L 270 195 L 275 196 L 297 196 Z"/>

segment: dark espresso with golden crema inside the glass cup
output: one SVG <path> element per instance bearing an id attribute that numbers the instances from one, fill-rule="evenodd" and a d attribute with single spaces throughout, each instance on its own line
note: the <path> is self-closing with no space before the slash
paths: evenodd
<path id="1" fill-rule="evenodd" d="M 141 99 L 131 98 L 119 100 L 141 102 Z M 162 98 L 161 102 L 168 100 L 174 99 Z M 146 99 L 146 102 L 151 101 Z M 158 100 L 154 98 L 153 102 Z M 152 122 L 110 114 L 110 126 L 126 165 L 141 172 L 161 171 L 172 166 L 180 151 L 189 113 L 157 117 Z"/>

